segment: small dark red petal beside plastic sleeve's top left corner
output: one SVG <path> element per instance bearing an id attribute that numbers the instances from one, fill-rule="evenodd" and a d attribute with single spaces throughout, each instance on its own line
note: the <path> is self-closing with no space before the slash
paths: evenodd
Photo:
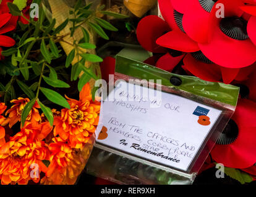
<path id="1" fill-rule="evenodd" d="M 114 68 L 116 65 L 116 59 L 113 57 L 104 58 L 103 62 L 100 64 L 100 69 L 102 73 L 102 78 L 105 81 L 109 81 L 109 74 L 114 74 Z"/>

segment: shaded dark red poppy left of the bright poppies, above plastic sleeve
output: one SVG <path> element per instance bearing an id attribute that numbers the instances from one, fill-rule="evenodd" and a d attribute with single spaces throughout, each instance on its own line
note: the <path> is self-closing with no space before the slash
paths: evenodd
<path id="1" fill-rule="evenodd" d="M 178 54 L 173 55 L 174 51 L 156 44 L 156 39 L 170 30 L 168 23 L 155 15 L 150 15 L 140 20 L 137 26 L 137 39 L 145 50 L 156 54 L 148 58 L 145 63 L 155 65 L 163 70 L 172 71 L 181 62 L 184 54 L 178 52 Z"/>

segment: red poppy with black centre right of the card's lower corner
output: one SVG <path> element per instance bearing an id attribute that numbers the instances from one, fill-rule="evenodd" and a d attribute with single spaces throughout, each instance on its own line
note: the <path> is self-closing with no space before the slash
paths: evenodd
<path id="1" fill-rule="evenodd" d="M 226 167 L 246 169 L 256 163 L 256 103 L 240 99 L 236 111 L 211 151 L 212 158 Z"/>

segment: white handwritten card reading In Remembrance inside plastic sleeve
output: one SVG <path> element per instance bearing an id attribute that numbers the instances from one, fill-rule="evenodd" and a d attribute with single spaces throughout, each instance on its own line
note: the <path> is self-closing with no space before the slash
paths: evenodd
<path id="1" fill-rule="evenodd" d="M 221 110 L 158 90 L 151 98 L 150 91 L 119 82 L 103 102 L 97 142 L 187 171 Z"/>

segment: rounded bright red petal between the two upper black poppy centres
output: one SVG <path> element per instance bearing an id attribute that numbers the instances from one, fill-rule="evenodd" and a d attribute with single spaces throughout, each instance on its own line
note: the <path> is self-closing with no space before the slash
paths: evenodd
<path id="1" fill-rule="evenodd" d="M 194 41 L 205 43 L 208 41 L 210 13 L 205 11 L 198 1 L 193 1 L 191 6 L 192 9 L 188 9 L 183 15 L 184 31 Z"/>

